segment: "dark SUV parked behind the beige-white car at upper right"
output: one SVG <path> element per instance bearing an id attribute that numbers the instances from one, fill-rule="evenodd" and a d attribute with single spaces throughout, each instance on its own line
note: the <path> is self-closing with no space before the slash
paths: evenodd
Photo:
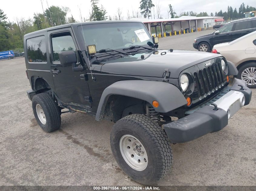
<path id="1" fill-rule="evenodd" d="M 230 42 L 255 30 L 256 17 L 230 21 L 213 33 L 196 38 L 193 47 L 201 52 L 211 52 L 215 44 Z"/>

